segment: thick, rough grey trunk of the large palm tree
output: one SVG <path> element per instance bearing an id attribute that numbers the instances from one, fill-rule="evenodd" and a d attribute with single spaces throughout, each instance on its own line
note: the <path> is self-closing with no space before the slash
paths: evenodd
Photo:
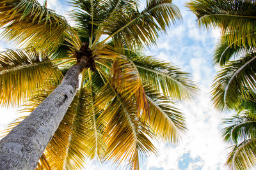
<path id="1" fill-rule="evenodd" d="M 78 77 L 87 62 L 83 58 L 72 66 L 61 84 L 0 141 L 0 169 L 36 168 L 77 92 Z"/>

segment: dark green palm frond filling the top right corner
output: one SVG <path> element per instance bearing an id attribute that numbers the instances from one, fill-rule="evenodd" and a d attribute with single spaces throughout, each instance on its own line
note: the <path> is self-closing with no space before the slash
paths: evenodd
<path id="1" fill-rule="evenodd" d="M 250 1 L 196 0 L 186 4 L 200 25 L 218 27 L 228 45 L 256 45 L 256 4 Z"/>

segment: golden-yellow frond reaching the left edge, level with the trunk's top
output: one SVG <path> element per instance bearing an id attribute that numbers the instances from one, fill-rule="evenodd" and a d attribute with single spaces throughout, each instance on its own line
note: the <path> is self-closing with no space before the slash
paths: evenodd
<path id="1" fill-rule="evenodd" d="M 0 103 L 20 106 L 42 85 L 60 81 L 62 74 L 47 53 L 8 50 L 0 53 Z"/>

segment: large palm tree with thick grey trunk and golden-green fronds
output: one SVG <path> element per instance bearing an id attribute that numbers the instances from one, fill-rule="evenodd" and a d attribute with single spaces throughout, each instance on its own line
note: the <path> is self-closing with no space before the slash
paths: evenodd
<path id="1" fill-rule="evenodd" d="M 177 143 L 186 130 L 173 100 L 191 99 L 195 83 L 138 53 L 181 19 L 172 1 L 72 5 L 76 28 L 46 3 L 0 2 L 4 38 L 23 47 L 0 54 L 1 105 L 29 100 L 31 112 L 0 141 L 1 169 L 81 169 L 87 157 L 139 169 L 141 153 L 156 153 L 152 139 Z"/>

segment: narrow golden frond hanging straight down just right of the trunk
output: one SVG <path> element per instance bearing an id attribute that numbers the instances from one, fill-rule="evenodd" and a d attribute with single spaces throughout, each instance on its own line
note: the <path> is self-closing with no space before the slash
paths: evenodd
<path id="1" fill-rule="evenodd" d="M 65 169 L 81 169 L 87 157 L 101 157 L 102 127 L 96 125 L 93 112 L 92 92 L 85 88 L 78 93 L 73 128 L 69 135 L 70 143 L 67 149 Z"/>

